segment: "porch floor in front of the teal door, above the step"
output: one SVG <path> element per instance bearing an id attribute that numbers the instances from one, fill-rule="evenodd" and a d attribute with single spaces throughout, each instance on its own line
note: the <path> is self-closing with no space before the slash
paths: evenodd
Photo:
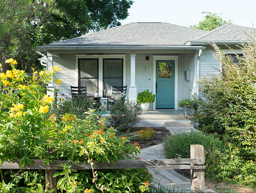
<path id="1" fill-rule="evenodd" d="M 148 110 L 143 111 L 141 119 L 187 119 L 183 110 Z"/>

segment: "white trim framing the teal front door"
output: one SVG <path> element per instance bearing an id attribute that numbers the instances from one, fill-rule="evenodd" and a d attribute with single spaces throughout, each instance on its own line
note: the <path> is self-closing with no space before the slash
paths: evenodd
<path id="1" fill-rule="evenodd" d="M 156 94 L 156 60 L 174 60 L 174 110 L 178 110 L 178 56 L 153 56 L 153 94 Z M 156 101 L 153 110 L 156 110 Z"/>

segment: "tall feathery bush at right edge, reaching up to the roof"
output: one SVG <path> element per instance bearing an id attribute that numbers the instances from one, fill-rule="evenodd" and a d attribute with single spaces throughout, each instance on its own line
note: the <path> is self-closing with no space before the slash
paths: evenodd
<path id="1" fill-rule="evenodd" d="M 199 128 L 217 133 L 240 150 L 245 160 L 256 160 L 256 37 L 242 44 L 243 57 L 234 58 L 216 44 L 214 55 L 222 64 L 220 74 L 202 76 L 200 110 L 192 117 Z"/>

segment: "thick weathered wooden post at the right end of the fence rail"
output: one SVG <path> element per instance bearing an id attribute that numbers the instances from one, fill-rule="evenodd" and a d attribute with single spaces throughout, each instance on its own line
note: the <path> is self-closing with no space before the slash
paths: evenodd
<path id="1" fill-rule="evenodd" d="M 190 145 L 190 158 L 204 158 L 204 146 Z M 194 165 L 194 164 L 191 164 Z M 203 166 L 203 165 L 202 165 Z M 191 169 L 191 191 L 204 192 L 204 169 Z"/>

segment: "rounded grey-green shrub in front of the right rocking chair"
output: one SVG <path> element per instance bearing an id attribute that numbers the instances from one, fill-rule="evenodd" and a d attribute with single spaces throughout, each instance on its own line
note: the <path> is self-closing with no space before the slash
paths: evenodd
<path id="1" fill-rule="evenodd" d="M 111 105 L 109 112 L 110 123 L 119 129 L 129 128 L 139 122 L 141 115 L 140 105 L 128 101 L 117 100 Z"/>

